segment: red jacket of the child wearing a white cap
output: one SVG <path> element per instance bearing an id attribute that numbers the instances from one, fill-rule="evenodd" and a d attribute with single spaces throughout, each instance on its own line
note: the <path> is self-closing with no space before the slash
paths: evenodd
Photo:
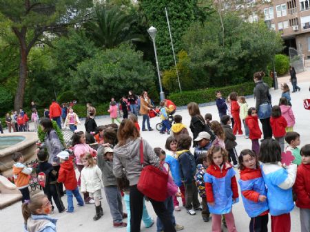
<path id="1" fill-rule="evenodd" d="M 59 176 L 57 181 L 63 182 L 63 184 L 65 184 L 65 189 L 76 189 L 77 181 L 72 159 L 65 160 L 63 163 L 61 163 L 61 168 L 59 169 Z"/>

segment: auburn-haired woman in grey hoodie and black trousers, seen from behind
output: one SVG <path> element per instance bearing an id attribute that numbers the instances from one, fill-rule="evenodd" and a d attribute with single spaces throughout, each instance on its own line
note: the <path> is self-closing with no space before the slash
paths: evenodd
<path id="1" fill-rule="evenodd" d="M 116 178 L 122 178 L 125 168 L 126 177 L 130 182 L 130 230 L 134 232 L 140 231 L 141 218 L 143 213 L 144 195 L 138 191 L 137 184 L 143 169 L 140 163 L 140 143 L 139 131 L 134 126 L 132 120 L 125 119 L 118 128 L 117 137 L 118 144 L 114 147 L 113 173 Z M 154 153 L 153 148 L 143 141 L 144 165 L 159 166 L 160 160 Z M 166 194 L 166 193 L 163 193 Z M 174 232 L 172 218 L 163 202 L 149 199 L 152 203 L 154 211 L 164 225 L 165 232 Z"/>

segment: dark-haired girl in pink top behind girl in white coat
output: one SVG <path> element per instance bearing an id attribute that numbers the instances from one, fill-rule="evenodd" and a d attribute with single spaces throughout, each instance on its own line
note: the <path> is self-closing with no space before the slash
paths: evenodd
<path id="1" fill-rule="evenodd" d="M 72 146 L 75 156 L 76 167 L 80 172 L 78 185 L 81 185 L 81 171 L 84 167 L 81 158 L 85 156 L 85 154 L 92 154 L 92 156 L 96 156 L 97 151 L 92 149 L 92 147 L 86 144 L 85 134 L 83 131 L 74 132 L 71 139 L 72 139 Z M 92 200 L 92 198 L 89 197 L 87 192 L 83 194 L 85 204 L 94 204 L 94 200 Z"/>

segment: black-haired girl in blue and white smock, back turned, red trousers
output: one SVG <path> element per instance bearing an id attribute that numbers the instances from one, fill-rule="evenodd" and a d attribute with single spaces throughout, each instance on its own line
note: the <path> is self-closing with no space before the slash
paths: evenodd
<path id="1" fill-rule="evenodd" d="M 292 188 L 296 178 L 296 165 L 283 167 L 281 162 L 281 148 L 273 139 L 266 139 L 260 145 L 259 159 L 262 162 L 262 178 L 268 189 L 267 199 L 271 215 L 272 232 L 291 231 L 291 216 L 293 210 Z"/>

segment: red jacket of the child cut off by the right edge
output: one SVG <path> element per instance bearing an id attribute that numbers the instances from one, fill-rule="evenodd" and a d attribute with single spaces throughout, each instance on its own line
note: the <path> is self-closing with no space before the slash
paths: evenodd
<path id="1" fill-rule="evenodd" d="M 310 165 L 302 163 L 298 167 L 293 191 L 297 195 L 296 207 L 310 209 Z"/>

